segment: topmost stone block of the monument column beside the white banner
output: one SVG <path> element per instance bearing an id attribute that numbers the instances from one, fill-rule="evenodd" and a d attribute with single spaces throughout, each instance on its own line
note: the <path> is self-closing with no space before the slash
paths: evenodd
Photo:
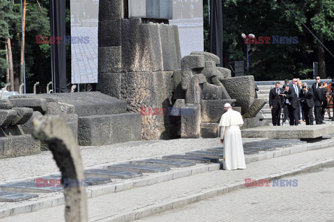
<path id="1" fill-rule="evenodd" d="M 124 0 L 100 0 L 99 21 L 124 18 Z"/>

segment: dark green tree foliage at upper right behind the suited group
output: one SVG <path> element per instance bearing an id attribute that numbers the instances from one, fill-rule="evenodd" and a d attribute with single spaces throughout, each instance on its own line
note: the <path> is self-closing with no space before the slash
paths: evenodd
<path id="1" fill-rule="evenodd" d="M 334 53 L 334 2 L 286 0 L 285 3 Z M 207 17 L 208 13 L 205 11 L 204 15 Z M 297 44 L 251 44 L 249 74 L 256 80 L 312 78 L 312 62 L 321 60 L 322 46 L 282 1 L 223 1 L 224 67 L 228 67 L 228 62 L 237 60 L 245 61 L 246 66 L 246 44 L 241 33 L 253 33 L 255 37 L 269 36 L 271 42 L 273 35 L 298 37 Z M 209 37 L 205 41 L 205 49 L 209 51 Z M 323 60 L 326 60 L 326 67 L 325 62 L 324 69 L 319 67 L 319 71 L 324 72 L 321 77 L 334 77 L 334 58 L 324 51 Z"/>

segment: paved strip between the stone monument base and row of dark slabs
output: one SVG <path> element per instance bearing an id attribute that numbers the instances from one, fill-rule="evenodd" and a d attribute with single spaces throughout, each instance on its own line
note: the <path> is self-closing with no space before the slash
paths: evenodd
<path id="1" fill-rule="evenodd" d="M 243 142 L 250 140 L 254 139 L 245 138 Z M 112 164 L 214 146 L 221 146 L 218 138 L 137 141 L 99 147 L 81 146 L 80 152 L 84 167 L 96 167 L 102 164 Z M 1 159 L 0 166 L 0 184 L 23 178 L 59 173 L 56 162 L 49 151 L 38 155 Z"/>

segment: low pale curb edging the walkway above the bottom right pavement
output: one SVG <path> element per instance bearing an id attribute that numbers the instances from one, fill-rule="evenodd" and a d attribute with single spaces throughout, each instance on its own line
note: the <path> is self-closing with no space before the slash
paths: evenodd
<path id="1" fill-rule="evenodd" d="M 275 173 L 268 176 L 263 176 L 255 180 L 273 180 L 278 178 L 283 178 L 287 176 L 295 176 L 300 173 L 307 173 L 308 171 L 323 168 L 323 167 L 334 167 L 334 159 L 325 160 L 323 162 L 317 162 L 314 164 L 307 164 L 297 169 L 292 169 L 289 171 L 284 171 L 283 173 Z M 234 182 L 231 185 L 224 187 L 218 187 L 213 189 L 203 190 L 198 194 L 192 194 L 182 198 L 177 198 L 176 200 L 166 201 L 164 203 L 159 203 L 156 205 L 150 205 L 148 207 L 143 207 L 138 210 L 129 211 L 122 213 L 117 216 L 112 216 L 109 219 L 103 219 L 101 222 L 120 222 L 120 221 L 135 221 L 138 219 L 143 219 L 152 214 L 157 214 L 159 212 L 164 212 L 166 210 L 176 209 L 177 207 L 182 207 L 184 205 L 189 205 L 192 203 L 197 203 L 200 200 L 205 200 L 207 198 L 212 198 L 217 195 L 226 194 L 231 191 L 236 191 L 238 189 L 251 188 L 245 187 L 245 182 Z"/>

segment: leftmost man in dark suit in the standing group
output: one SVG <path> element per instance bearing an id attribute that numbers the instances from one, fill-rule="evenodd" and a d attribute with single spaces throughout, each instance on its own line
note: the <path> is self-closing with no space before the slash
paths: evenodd
<path id="1" fill-rule="evenodd" d="M 280 82 L 276 82 L 276 87 L 270 89 L 269 92 L 269 106 L 271 109 L 271 119 L 273 126 L 280 126 L 280 108 L 282 108 L 282 101 L 280 99 Z"/>

